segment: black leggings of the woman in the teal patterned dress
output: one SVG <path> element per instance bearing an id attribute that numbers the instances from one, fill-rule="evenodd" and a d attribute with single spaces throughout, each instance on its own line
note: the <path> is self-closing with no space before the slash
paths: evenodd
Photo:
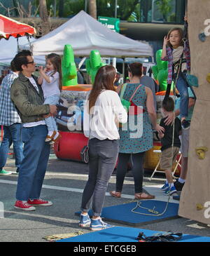
<path id="1" fill-rule="evenodd" d="M 135 193 L 142 192 L 143 175 L 144 175 L 144 153 L 132 154 L 133 168 L 132 173 L 134 175 L 134 188 Z M 123 182 L 125 179 L 125 173 L 127 172 L 127 163 L 131 154 L 119 153 L 118 155 L 118 167 L 116 176 L 116 191 L 121 192 L 123 190 Z"/>

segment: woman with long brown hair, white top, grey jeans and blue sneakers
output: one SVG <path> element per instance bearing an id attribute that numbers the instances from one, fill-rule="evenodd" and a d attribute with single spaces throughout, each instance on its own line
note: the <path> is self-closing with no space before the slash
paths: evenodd
<path id="1" fill-rule="evenodd" d="M 89 177 L 83 191 L 80 227 L 111 227 L 102 221 L 106 189 L 118 158 L 120 138 L 116 123 L 127 122 L 127 112 L 114 88 L 116 69 L 100 67 L 84 109 L 84 133 L 89 141 Z M 92 203 L 92 219 L 88 215 Z"/>

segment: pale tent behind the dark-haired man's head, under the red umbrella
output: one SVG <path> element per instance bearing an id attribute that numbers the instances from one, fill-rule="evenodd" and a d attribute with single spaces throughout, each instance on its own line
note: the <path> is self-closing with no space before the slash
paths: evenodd
<path id="1" fill-rule="evenodd" d="M 34 37 L 31 37 L 29 39 L 30 42 L 36 41 Z M 18 42 L 20 45 L 27 46 L 26 48 L 29 48 L 29 41 L 27 39 L 27 36 L 22 36 L 18 38 L 18 41 L 15 37 L 10 36 L 8 40 L 1 39 L 0 40 L 0 65 L 9 66 L 11 60 L 15 57 L 15 55 L 18 53 Z M 45 64 L 45 57 L 44 56 L 34 56 L 34 60 L 37 64 Z"/>

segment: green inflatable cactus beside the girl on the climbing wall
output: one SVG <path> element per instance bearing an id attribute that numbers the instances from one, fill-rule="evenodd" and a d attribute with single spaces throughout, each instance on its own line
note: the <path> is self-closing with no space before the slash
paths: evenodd
<path id="1" fill-rule="evenodd" d="M 160 90 L 167 89 L 167 77 L 168 77 L 168 62 L 161 60 L 162 49 L 156 52 L 157 65 L 152 67 L 153 76 L 155 80 L 158 80 Z"/>

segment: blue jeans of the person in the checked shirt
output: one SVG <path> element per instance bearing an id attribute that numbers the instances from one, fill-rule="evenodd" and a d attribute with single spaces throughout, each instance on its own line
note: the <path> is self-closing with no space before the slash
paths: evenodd
<path id="1" fill-rule="evenodd" d="M 3 126 L 3 140 L 0 147 L 0 170 L 6 165 L 8 150 L 13 143 L 15 154 L 15 166 L 20 168 L 23 159 L 22 153 L 22 123 L 13 123 L 11 126 Z"/>

